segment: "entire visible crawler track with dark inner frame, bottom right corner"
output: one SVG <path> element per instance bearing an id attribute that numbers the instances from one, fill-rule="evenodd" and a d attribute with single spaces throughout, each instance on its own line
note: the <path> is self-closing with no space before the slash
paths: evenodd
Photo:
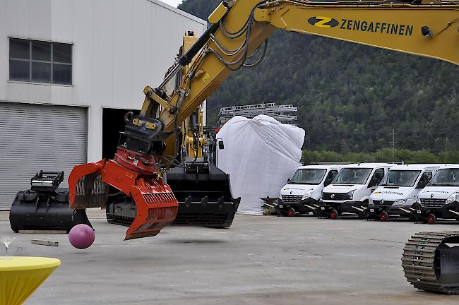
<path id="1" fill-rule="evenodd" d="M 403 249 L 405 277 L 415 288 L 459 294 L 459 232 L 420 232 Z"/>

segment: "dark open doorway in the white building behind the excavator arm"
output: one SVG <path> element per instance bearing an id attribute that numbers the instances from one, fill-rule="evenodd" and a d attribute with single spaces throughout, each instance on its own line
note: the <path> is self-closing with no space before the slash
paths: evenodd
<path id="1" fill-rule="evenodd" d="M 124 114 L 138 110 L 104 108 L 102 112 L 102 158 L 113 159 L 117 152 L 119 132 L 124 131 Z"/>

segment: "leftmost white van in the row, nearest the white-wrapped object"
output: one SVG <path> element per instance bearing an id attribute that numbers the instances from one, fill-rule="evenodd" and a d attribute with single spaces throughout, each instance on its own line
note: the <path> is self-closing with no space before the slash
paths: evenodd
<path id="1" fill-rule="evenodd" d="M 316 212 L 322 190 L 333 181 L 342 165 L 306 165 L 299 167 L 280 190 L 278 213 L 294 216 Z"/>

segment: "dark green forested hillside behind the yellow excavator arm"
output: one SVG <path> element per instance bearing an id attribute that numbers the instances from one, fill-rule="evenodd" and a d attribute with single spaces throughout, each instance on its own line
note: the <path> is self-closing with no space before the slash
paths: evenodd
<path id="1" fill-rule="evenodd" d="M 205 19 L 218 2 L 179 8 Z M 392 128 L 398 148 L 458 150 L 458 75 L 434 59 L 278 31 L 260 66 L 233 73 L 208 99 L 208 121 L 234 104 L 294 104 L 306 150 L 373 152 L 389 147 Z"/>

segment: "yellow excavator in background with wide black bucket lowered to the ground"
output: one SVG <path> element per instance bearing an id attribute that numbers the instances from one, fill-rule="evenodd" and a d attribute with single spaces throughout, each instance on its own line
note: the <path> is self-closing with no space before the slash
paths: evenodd
<path id="1" fill-rule="evenodd" d="M 179 56 L 197 39 L 193 32 L 186 32 Z M 179 82 L 176 80 L 165 86 L 167 95 L 177 90 Z M 174 225 L 213 228 L 232 225 L 241 198 L 233 198 L 229 174 L 216 167 L 215 134 L 213 128 L 204 126 L 202 107 L 195 109 L 177 128 L 179 152 L 171 167 L 164 172 L 165 180 L 179 203 Z M 136 213 L 133 198 L 116 189 L 109 193 L 106 207 L 109 223 L 129 226 L 136 218 Z"/>

